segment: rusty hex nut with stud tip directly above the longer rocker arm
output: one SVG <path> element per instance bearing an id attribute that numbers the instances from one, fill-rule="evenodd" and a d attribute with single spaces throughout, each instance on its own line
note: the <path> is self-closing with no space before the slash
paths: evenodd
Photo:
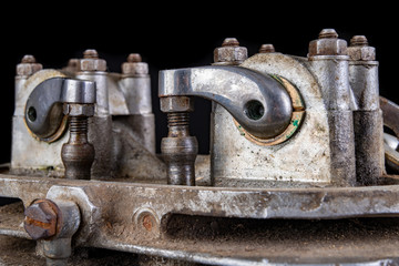
<path id="1" fill-rule="evenodd" d="M 214 62 L 224 64 L 239 64 L 248 58 L 245 47 L 239 47 L 237 39 L 226 38 L 222 47 L 214 50 Z"/>

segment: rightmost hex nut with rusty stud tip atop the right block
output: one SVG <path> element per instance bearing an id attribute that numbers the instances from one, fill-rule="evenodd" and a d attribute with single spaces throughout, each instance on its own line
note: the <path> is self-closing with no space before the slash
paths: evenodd
<path id="1" fill-rule="evenodd" d="M 365 35 L 354 35 L 348 47 L 348 55 L 352 61 L 374 61 L 376 48 L 369 47 Z"/>

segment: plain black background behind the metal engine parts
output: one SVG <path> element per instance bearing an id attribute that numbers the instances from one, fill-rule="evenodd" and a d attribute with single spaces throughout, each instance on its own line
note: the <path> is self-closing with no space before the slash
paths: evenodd
<path id="1" fill-rule="evenodd" d="M 18 6 L 20 4 L 20 6 Z M 276 51 L 306 57 L 309 41 L 324 28 L 334 28 L 347 41 L 364 34 L 377 49 L 380 62 L 380 94 L 399 102 L 397 76 L 397 18 L 393 6 L 361 2 L 323 7 L 308 2 L 234 1 L 204 2 L 51 2 L 22 3 L 1 9 L 1 144 L 0 163 L 10 161 L 11 117 L 14 104 L 16 65 L 33 54 L 43 68 L 59 69 L 69 59 L 96 49 L 111 72 L 120 72 L 129 53 L 141 53 L 152 76 L 156 147 L 167 133 L 157 99 L 157 72 L 164 69 L 207 65 L 213 50 L 227 37 L 247 47 L 248 55 L 262 43 Z M 350 9 L 349 9 L 350 8 Z M 383 10 L 383 11 L 379 11 Z M 200 153 L 208 153 L 211 103 L 197 99 L 191 130 Z"/>

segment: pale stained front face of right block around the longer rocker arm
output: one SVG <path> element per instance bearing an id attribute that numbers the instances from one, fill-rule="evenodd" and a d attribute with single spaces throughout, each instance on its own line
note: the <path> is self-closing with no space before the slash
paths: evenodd
<path id="1" fill-rule="evenodd" d="M 278 52 L 258 53 L 241 65 L 288 80 L 300 92 L 306 117 L 286 142 L 260 146 L 241 135 L 232 115 L 215 105 L 211 120 L 211 172 L 216 186 L 321 186 L 331 181 L 328 112 L 305 60 Z"/>

